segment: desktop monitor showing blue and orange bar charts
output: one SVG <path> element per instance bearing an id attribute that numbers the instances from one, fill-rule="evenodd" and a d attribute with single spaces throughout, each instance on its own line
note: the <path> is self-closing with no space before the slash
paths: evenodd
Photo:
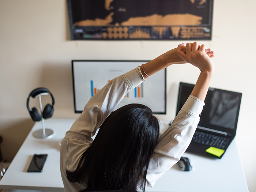
<path id="1" fill-rule="evenodd" d="M 110 80 L 147 62 L 72 60 L 75 112 L 81 113 L 89 99 Z M 142 103 L 154 114 L 166 114 L 166 69 L 129 91 L 116 109 L 129 103 Z"/>

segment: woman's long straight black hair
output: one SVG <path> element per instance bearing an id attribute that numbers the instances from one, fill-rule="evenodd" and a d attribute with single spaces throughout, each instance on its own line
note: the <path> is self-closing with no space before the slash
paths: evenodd
<path id="1" fill-rule="evenodd" d="M 125 105 L 112 112 L 95 140 L 83 153 L 70 182 L 87 186 L 83 191 L 142 190 L 150 157 L 157 144 L 159 122 L 150 108 Z M 139 186 L 139 189 L 137 189 Z"/>

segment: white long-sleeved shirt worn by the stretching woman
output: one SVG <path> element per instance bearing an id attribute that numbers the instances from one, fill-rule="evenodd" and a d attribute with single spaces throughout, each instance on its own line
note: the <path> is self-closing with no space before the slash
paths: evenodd
<path id="1" fill-rule="evenodd" d="M 80 156 L 93 142 L 92 136 L 118 103 L 144 81 L 138 68 L 111 80 L 84 107 L 61 142 L 60 171 L 65 191 L 80 191 L 86 186 L 69 182 L 66 170 L 74 171 Z M 111 98 L 111 99 L 110 99 Z M 204 102 L 190 95 L 172 125 L 160 136 L 147 170 L 147 186 L 177 163 L 185 152 L 199 123 Z"/>

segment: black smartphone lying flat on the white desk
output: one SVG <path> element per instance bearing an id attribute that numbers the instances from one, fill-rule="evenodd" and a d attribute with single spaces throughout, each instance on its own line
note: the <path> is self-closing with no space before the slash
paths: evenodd
<path id="1" fill-rule="evenodd" d="M 34 154 L 27 172 L 43 172 L 43 167 L 48 154 Z"/>

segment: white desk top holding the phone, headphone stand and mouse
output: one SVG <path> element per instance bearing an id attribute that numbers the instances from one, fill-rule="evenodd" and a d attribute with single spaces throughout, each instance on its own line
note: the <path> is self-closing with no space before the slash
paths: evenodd
<path id="1" fill-rule="evenodd" d="M 64 191 L 60 175 L 60 140 L 75 119 L 48 119 L 45 127 L 54 130 L 49 139 L 36 139 L 32 133 L 41 129 L 41 122 L 35 123 L 20 147 L 11 165 L 0 181 L 0 188 L 41 191 Z M 33 154 L 48 154 L 42 173 L 27 173 Z M 159 192 L 248 192 L 246 180 L 233 141 L 222 159 L 210 159 L 185 153 L 191 159 L 193 169 L 182 172 L 174 165 L 147 191 Z"/>

